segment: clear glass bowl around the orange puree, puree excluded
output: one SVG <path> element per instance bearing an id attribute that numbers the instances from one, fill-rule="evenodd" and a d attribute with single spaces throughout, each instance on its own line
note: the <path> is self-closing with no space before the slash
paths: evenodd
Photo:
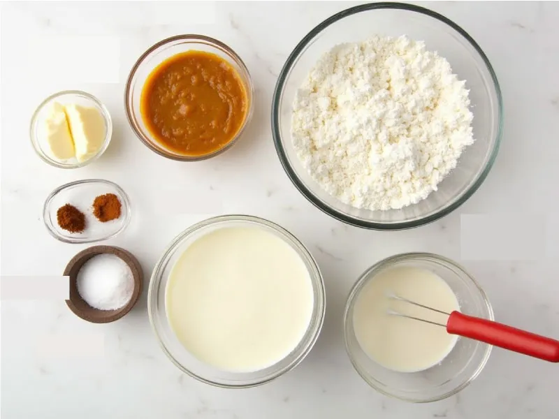
<path id="1" fill-rule="evenodd" d="M 231 64 L 235 71 L 237 71 L 242 83 L 245 86 L 248 101 L 245 121 L 242 123 L 242 126 L 235 137 L 222 148 L 210 154 L 204 154 L 203 156 L 185 156 L 184 154 L 174 152 L 162 145 L 154 138 L 152 133 L 150 133 L 150 130 L 147 129 L 140 112 L 142 89 L 147 77 L 152 73 L 154 68 L 159 66 L 159 64 L 166 59 L 173 57 L 173 55 L 190 50 L 211 52 L 212 54 L 216 54 L 226 60 L 228 64 Z M 159 41 L 157 44 L 150 47 L 142 54 L 138 61 L 136 61 L 136 64 L 132 67 L 128 76 L 128 81 L 126 82 L 126 91 L 124 93 L 124 108 L 126 109 L 126 117 L 128 118 L 132 131 L 134 131 L 138 138 L 140 138 L 140 140 L 152 151 L 156 152 L 160 156 L 167 157 L 168 159 L 179 161 L 199 161 L 210 159 L 210 157 L 217 156 L 217 154 L 221 154 L 226 149 L 231 147 L 245 131 L 245 128 L 252 117 L 253 104 L 254 86 L 245 63 L 242 62 L 242 59 L 240 59 L 240 57 L 230 47 L 220 41 L 217 41 L 216 39 L 203 35 L 177 35 L 164 39 L 163 41 Z"/>

